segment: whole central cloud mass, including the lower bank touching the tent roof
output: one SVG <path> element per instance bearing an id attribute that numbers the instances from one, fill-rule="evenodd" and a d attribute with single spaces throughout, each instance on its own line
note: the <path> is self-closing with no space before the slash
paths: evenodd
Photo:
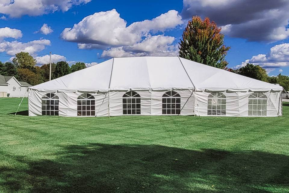
<path id="1" fill-rule="evenodd" d="M 170 45 L 174 37 L 151 34 L 163 33 L 182 24 L 178 11 L 170 10 L 151 20 L 127 26 L 113 9 L 89 15 L 72 28 L 65 28 L 61 38 L 77 42 L 79 49 L 103 49 L 102 57 L 151 55 L 152 52 L 155 55 L 176 55 L 176 46 Z"/>

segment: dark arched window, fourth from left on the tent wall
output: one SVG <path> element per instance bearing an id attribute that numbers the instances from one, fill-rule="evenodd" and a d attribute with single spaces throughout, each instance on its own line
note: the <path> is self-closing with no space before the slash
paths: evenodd
<path id="1" fill-rule="evenodd" d="M 181 114 L 181 96 L 175 91 L 163 94 L 163 115 Z"/>

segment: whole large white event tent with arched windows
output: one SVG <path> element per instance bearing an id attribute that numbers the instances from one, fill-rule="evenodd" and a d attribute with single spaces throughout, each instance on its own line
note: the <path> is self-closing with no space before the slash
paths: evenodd
<path id="1" fill-rule="evenodd" d="M 283 88 L 180 57 L 113 58 L 29 88 L 29 115 L 281 116 Z"/>

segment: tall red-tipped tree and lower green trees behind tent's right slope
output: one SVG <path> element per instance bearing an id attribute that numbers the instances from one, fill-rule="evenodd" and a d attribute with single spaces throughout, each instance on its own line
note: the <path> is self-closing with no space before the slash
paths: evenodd
<path id="1" fill-rule="evenodd" d="M 248 63 L 237 70 L 227 68 L 228 62 L 225 60 L 225 56 L 230 47 L 224 45 L 224 34 L 221 33 L 221 30 L 222 28 L 218 27 L 214 21 L 211 22 L 208 17 L 205 17 L 204 20 L 199 16 L 192 17 L 182 34 L 179 56 L 260 81 L 279 84 L 285 90 L 289 90 L 288 76 L 279 74 L 270 77 L 266 70 L 259 65 Z"/>

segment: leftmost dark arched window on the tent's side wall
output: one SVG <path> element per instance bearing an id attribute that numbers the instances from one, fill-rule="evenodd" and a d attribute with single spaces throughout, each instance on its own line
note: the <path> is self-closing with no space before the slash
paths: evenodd
<path id="1" fill-rule="evenodd" d="M 42 115 L 58 115 L 59 97 L 54 93 L 42 96 Z"/>

